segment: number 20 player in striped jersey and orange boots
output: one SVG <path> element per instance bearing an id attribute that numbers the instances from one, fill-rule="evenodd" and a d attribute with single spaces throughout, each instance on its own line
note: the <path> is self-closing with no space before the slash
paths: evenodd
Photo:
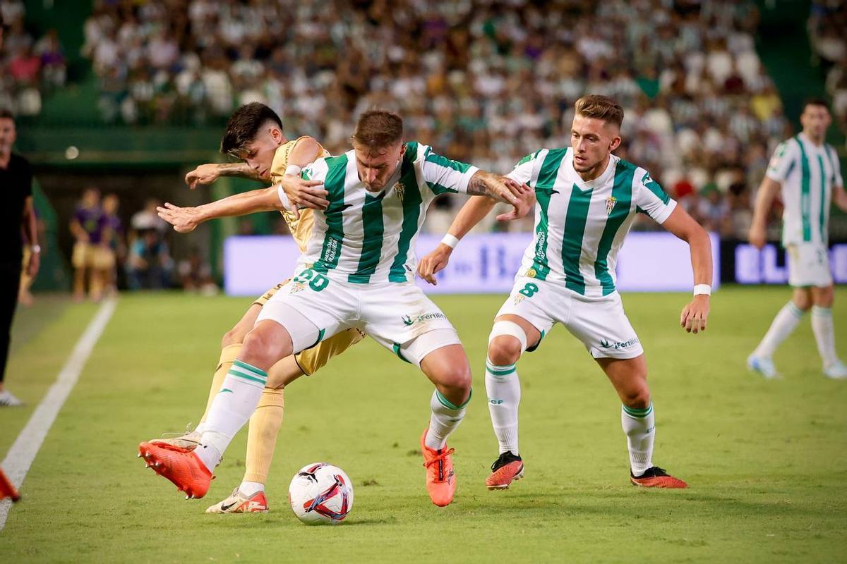
<path id="1" fill-rule="evenodd" d="M 192 452 L 155 452 L 156 471 L 189 495 L 208 490 L 213 468 L 256 408 L 267 371 L 351 327 L 365 331 L 400 359 L 416 364 L 435 384 L 429 427 L 421 436 L 429 497 L 446 506 L 456 490 L 447 437 L 464 417 L 471 371 L 456 330 L 414 283 L 414 244 L 430 202 L 439 194 L 486 195 L 526 215 L 529 187 L 402 142 L 402 120 L 365 112 L 353 150 L 318 159 L 302 177 L 320 181 L 329 205 L 314 211 L 314 226 L 296 276 L 268 300 L 244 339 L 209 409 Z M 280 202 L 285 199 L 280 194 Z M 155 448 L 155 447 L 154 447 Z M 161 456 L 159 456 L 161 455 Z M 146 457 L 151 460 L 149 456 Z"/>

